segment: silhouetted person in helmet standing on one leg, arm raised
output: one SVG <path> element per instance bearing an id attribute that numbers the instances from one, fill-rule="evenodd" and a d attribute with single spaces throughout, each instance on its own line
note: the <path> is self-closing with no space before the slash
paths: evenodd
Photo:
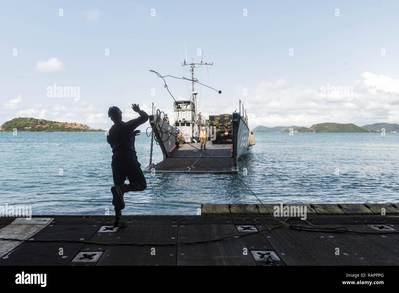
<path id="1" fill-rule="evenodd" d="M 108 110 L 108 117 L 114 122 L 107 136 L 107 142 L 111 145 L 113 152 L 111 167 L 115 186 L 111 187 L 111 192 L 116 215 L 114 227 L 124 227 L 127 224 L 122 220 L 121 210 L 125 206 L 123 194 L 128 191 L 143 191 L 147 188 L 146 179 L 137 161 L 134 140 L 135 136 L 140 134 L 140 130 L 135 129 L 148 120 L 148 115 L 140 110 L 138 104 L 132 104 L 132 109 L 140 114 L 140 117 L 128 122 L 122 121 L 122 111 L 118 107 L 112 106 Z M 126 177 L 129 184 L 124 184 Z"/>

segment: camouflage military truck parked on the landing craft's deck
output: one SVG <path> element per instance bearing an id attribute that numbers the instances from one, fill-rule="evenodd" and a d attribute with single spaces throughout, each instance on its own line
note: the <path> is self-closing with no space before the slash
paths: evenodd
<path id="1" fill-rule="evenodd" d="M 209 115 L 209 132 L 214 132 L 215 140 L 212 144 L 218 144 L 223 140 L 233 139 L 233 115 L 220 114 Z"/>

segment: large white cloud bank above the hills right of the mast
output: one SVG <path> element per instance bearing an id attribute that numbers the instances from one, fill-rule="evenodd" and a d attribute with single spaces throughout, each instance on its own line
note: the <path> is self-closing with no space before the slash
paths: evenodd
<path id="1" fill-rule="evenodd" d="M 353 87 L 353 95 L 340 96 L 331 92 L 321 95 L 321 87 L 299 87 L 280 78 L 277 81 L 262 81 L 255 88 L 248 88 L 243 96 L 243 87 L 229 99 L 203 100 L 201 112 L 207 116 L 233 112 L 241 99 L 251 128 L 265 126 L 311 126 L 316 123 L 354 123 L 358 126 L 378 122 L 399 123 L 399 80 L 384 75 L 365 72 L 361 82 L 334 87 Z M 231 101 L 237 101 L 231 104 Z M 206 109 L 206 110 L 205 110 Z M 212 109 L 211 111 L 208 109 Z M 209 111 L 209 112 L 208 112 Z M 238 109 L 237 109 L 238 111 Z"/>

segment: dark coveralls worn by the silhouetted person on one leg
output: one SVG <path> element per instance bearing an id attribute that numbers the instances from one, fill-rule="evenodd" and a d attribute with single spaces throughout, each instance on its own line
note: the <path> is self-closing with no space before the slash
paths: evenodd
<path id="1" fill-rule="evenodd" d="M 147 188 L 147 182 L 141 171 L 141 164 L 137 160 L 136 150 L 134 149 L 135 135 L 134 130 L 148 120 L 148 115 L 144 111 L 139 112 L 140 117 L 128 122 L 114 124 L 109 130 L 107 142 L 112 147 L 112 175 L 114 185 L 119 185 L 122 192 L 143 191 Z M 124 184 L 126 177 L 129 184 Z M 121 210 L 115 208 L 117 220 L 122 219 Z"/>

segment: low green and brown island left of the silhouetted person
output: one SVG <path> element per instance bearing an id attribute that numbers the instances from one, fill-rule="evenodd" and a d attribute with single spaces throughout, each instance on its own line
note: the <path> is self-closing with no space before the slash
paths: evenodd
<path id="1" fill-rule="evenodd" d="M 4 122 L 0 131 L 30 131 L 30 132 L 104 132 L 105 130 L 93 129 L 84 124 L 56 122 L 35 118 L 14 118 Z"/>

